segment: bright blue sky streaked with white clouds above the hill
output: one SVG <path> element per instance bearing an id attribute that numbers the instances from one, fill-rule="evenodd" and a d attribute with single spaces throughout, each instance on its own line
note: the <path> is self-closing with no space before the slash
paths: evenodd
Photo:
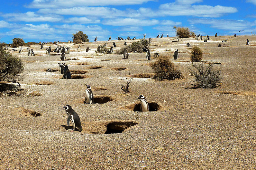
<path id="1" fill-rule="evenodd" d="M 67 42 L 78 31 L 90 41 L 176 36 L 174 25 L 201 35 L 256 34 L 256 0 L 4 0 L 0 6 L 5 43 Z"/>

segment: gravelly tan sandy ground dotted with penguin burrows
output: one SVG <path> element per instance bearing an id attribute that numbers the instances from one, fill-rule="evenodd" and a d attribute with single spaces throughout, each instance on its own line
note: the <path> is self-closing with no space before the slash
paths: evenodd
<path id="1" fill-rule="evenodd" d="M 18 54 L 8 49 L 25 63 L 20 82 L 24 90 L 20 95 L 0 96 L 0 169 L 255 169 L 256 37 L 230 37 L 210 36 L 207 43 L 193 38 L 180 42 L 171 37 L 152 39 L 151 55 L 172 56 L 179 49 L 179 60 L 172 61 L 184 78 L 161 82 L 134 78 L 128 94 L 122 94 L 120 87 L 126 84 L 129 73 L 153 72 L 146 53 L 130 53 L 129 59 L 122 59 L 122 55 L 95 54 L 98 45 L 105 42 L 83 44 L 81 52 L 76 52 L 78 45 L 59 44 L 71 47 L 67 58 L 79 59 L 64 61 L 71 72 L 88 71 L 80 74 L 88 78 L 61 79 L 59 72 L 45 71 L 58 69 L 57 63 L 63 63 L 59 55 L 46 55 L 45 48 L 51 45 L 53 51 L 56 45 L 45 44 L 43 50 L 40 45 L 30 46 L 36 56 L 27 56 L 28 50 Z M 226 38 L 228 42 L 221 43 Z M 245 45 L 247 39 L 251 45 Z M 114 41 L 114 51 L 124 41 Z M 113 41 L 106 42 L 110 47 Z M 185 46 L 188 42 L 202 49 L 203 60 L 221 63 L 214 65 L 222 72 L 219 88 L 186 88 L 193 81 L 188 71 L 192 63 L 181 62 L 190 60 L 191 47 Z M 91 49 L 88 53 L 87 46 Z M 88 65 L 78 65 L 80 62 Z M 110 69 L 116 67 L 127 69 Z M 35 85 L 40 82 L 51 85 Z M 95 89 L 95 96 L 107 95 L 113 100 L 84 104 L 85 84 Z M 40 96 L 27 95 L 31 91 Z M 141 94 L 161 109 L 128 110 L 126 106 L 135 104 Z M 80 116 L 82 132 L 67 130 L 64 105 L 71 105 Z M 36 110 L 41 116 L 30 116 L 23 108 Z M 109 120 L 137 124 L 122 133 L 92 133 Z"/>

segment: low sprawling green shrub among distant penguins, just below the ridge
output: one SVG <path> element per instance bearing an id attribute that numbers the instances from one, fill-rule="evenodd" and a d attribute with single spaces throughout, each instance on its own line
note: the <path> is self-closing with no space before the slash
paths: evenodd
<path id="1" fill-rule="evenodd" d="M 123 47 L 120 50 L 117 50 L 115 52 L 115 54 L 124 54 L 125 48 L 128 52 L 138 52 L 138 53 L 142 53 L 142 49 L 143 47 L 147 47 L 149 46 L 150 42 L 146 39 L 141 39 L 139 41 L 135 41 L 132 42 L 131 44 L 129 44 L 127 47 Z"/>

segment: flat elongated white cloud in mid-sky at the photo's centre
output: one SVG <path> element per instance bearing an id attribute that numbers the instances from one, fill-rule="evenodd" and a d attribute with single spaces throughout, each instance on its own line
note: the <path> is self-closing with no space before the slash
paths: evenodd
<path id="1" fill-rule="evenodd" d="M 115 25 L 115 26 L 124 26 L 124 25 L 139 25 L 139 26 L 149 26 L 158 24 L 158 20 L 144 20 L 144 19 L 133 19 L 133 18 L 118 18 L 103 20 L 102 24 L 104 25 Z"/>

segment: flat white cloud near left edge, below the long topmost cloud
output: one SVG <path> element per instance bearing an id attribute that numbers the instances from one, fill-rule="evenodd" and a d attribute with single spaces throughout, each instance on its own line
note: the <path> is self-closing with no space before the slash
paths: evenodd
<path id="1" fill-rule="evenodd" d="M 39 15 L 35 12 L 26 13 L 6 13 L 2 15 L 8 21 L 25 21 L 25 22 L 56 22 L 61 21 L 63 17 L 59 15 Z"/>

